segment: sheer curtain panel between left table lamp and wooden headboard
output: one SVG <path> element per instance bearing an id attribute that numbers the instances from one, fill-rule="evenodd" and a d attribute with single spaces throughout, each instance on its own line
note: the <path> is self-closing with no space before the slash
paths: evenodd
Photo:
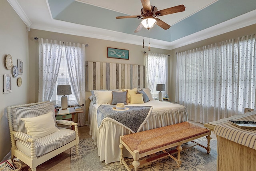
<path id="1" fill-rule="evenodd" d="M 78 104 L 85 104 L 85 53 L 84 44 L 65 43 L 70 82 Z M 82 106 L 86 111 L 85 105 Z M 85 125 L 86 116 L 78 113 L 78 126 Z"/>

